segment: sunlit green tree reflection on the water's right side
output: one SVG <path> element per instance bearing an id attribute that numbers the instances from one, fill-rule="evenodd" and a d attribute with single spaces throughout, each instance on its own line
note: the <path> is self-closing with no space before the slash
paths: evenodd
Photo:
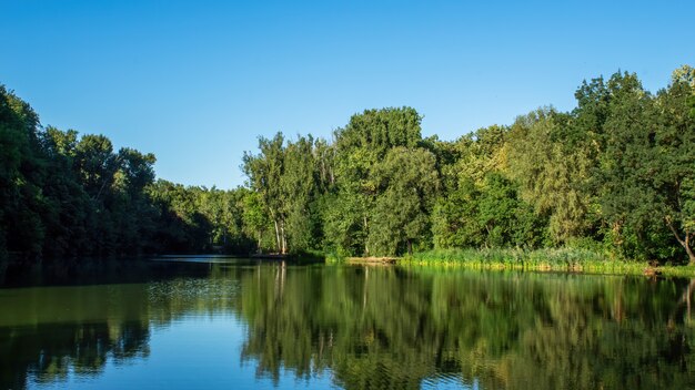
<path id="1" fill-rule="evenodd" d="M 290 368 L 331 369 L 349 389 L 447 374 L 483 389 L 695 386 L 682 280 L 359 267 L 275 277 L 246 276 L 239 304 L 243 356 L 275 379 Z"/>

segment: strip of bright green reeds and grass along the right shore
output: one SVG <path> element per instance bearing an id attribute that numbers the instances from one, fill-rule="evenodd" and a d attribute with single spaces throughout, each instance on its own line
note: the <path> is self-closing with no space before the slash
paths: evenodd
<path id="1" fill-rule="evenodd" d="M 588 274 L 644 275 L 695 277 L 693 266 L 661 266 L 655 269 L 647 263 L 627 261 L 588 249 L 445 249 L 416 253 L 400 258 L 400 265 L 427 267 L 465 267 L 473 269 L 520 269 L 545 271 L 573 271 Z M 648 269 L 648 270 L 647 270 Z"/>

